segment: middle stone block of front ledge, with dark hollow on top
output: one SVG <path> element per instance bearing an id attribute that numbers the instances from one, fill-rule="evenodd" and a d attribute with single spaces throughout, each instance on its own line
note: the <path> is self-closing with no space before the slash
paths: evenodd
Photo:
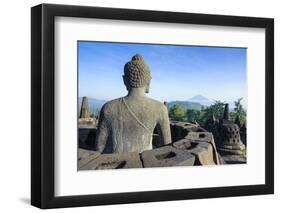
<path id="1" fill-rule="evenodd" d="M 192 154 L 172 146 L 144 151 L 141 158 L 144 167 L 193 166 L 195 161 Z"/>

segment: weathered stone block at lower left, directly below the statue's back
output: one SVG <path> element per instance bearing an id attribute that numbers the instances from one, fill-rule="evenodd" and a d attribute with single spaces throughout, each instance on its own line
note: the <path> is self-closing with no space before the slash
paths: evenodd
<path id="1" fill-rule="evenodd" d="M 125 169 L 142 168 L 140 156 L 136 152 L 102 154 L 98 158 L 90 161 L 81 170 L 101 170 L 101 169 Z"/>

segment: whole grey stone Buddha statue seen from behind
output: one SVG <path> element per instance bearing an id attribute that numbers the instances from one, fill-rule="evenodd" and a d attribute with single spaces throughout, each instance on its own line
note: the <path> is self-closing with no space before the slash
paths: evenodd
<path id="1" fill-rule="evenodd" d="M 102 153 L 138 152 L 152 149 L 153 130 L 161 131 L 162 145 L 171 143 L 167 107 L 146 97 L 151 73 L 141 55 L 135 55 L 124 66 L 124 84 L 128 90 L 101 109 L 95 149 Z"/>

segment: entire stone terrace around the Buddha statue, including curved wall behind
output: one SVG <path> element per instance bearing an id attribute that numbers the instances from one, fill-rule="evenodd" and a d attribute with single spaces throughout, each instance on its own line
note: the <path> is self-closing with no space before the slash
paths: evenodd
<path id="1" fill-rule="evenodd" d="M 169 145 L 154 146 L 142 153 L 101 154 L 93 151 L 96 128 L 82 125 L 79 128 L 78 170 L 246 163 L 246 155 L 220 156 L 213 134 L 195 124 L 172 121 L 170 127 L 173 142 Z"/>

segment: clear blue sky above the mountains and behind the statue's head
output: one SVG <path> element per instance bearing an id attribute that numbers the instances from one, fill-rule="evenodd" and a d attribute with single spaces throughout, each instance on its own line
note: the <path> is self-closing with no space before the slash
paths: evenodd
<path id="1" fill-rule="evenodd" d="M 123 68 L 136 53 L 149 65 L 148 96 L 159 101 L 195 95 L 246 101 L 245 48 L 78 42 L 79 96 L 110 100 L 125 96 Z"/>

